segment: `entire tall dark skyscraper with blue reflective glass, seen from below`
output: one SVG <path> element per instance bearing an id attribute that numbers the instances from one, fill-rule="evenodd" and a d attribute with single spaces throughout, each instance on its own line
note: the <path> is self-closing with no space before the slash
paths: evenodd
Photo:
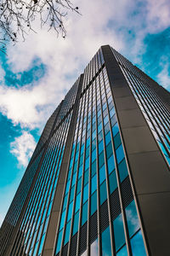
<path id="1" fill-rule="evenodd" d="M 1 255 L 167 256 L 170 95 L 102 46 L 48 119 Z"/>

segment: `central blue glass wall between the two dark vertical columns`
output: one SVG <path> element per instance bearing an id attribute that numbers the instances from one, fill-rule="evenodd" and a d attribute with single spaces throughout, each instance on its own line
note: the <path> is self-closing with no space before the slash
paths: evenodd
<path id="1" fill-rule="evenodd" d="M 86 67 L 82 85 L 55 254 L 144 256 L 101 50 Z"/>

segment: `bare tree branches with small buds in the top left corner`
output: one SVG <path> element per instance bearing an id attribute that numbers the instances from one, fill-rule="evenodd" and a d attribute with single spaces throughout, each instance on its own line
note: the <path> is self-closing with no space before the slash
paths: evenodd
<path id="1" fill-rule="evenodd" d="M 78 12 L 70 0 L 1 0 L 0 3 L 0 51 L 5 53 L 7 41 L 14 44 L 18 38 L 25 40 L 30 32 L 36 32 L 33 21 L 40 19 L 41 26 L 48 26 L 66 36 L 64 18 L 67 11 Z"/>

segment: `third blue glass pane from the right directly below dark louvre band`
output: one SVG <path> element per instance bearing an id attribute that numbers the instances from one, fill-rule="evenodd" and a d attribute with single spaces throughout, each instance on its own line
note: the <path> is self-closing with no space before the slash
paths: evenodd
<path id="1" fill-rule="evenodd" d="M 111 256 L 111 236 L 110 236 L 109 227 L 102 232 L 101 242 L 102 242 L 102 255 Z"/>

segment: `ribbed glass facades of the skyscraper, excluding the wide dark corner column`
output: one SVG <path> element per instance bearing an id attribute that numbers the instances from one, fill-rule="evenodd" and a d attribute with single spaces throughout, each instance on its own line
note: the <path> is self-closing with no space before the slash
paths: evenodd
<path id="1" fill-rule="evenodd" d="M 169 165 L 168 108 L 111 50 Z M 120 122 L 100 48 L 48 119 L 3 222 L 2 252 L 11 239 L 10 255 L 43 255 L 59 196 L 50 255 L 149 255 Z"/>

